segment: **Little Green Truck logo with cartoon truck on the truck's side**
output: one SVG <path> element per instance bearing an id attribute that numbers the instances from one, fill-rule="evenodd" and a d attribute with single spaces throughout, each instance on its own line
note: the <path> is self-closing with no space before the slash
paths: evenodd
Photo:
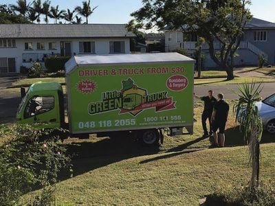
<path id="1" fill-rule="evenodd" d="M 102 93 L 100 102 L 88 104 L 89 115 L 120 110 L 122 113 L 130 113 L 135 116 L 144 109 L 155 108 L 155 112 L 167 111 L 176 108 L 172 97 L 168 97 L 168 91 L 148 94 L 146 89 L 137 87 L 131 78 L 122 80 L 120 91 L 106 91 Z"/>

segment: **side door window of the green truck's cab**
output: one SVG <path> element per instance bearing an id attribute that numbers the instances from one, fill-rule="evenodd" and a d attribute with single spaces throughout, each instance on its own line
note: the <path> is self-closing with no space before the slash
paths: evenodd
<path id="1" fill-rule="evenodd" d="M 53 96 L 35 96 L 31 98 L 25 107 L 24 118 L 40 115 L 54 108 Z"/>

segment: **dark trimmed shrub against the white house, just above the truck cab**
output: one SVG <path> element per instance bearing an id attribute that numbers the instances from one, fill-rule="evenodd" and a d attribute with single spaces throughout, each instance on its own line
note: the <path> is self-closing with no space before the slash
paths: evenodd
<path id="1" fill-rule="evenodd" d="M 45 67 L 50 72 L 56 72 L 58 70 L 65 69 L 65 63 L 69 60 L 69 56 L 56 56 L 45 58 Z"/>

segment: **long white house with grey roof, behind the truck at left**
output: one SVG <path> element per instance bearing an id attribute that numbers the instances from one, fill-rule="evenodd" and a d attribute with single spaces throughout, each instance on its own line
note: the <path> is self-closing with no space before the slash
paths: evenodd
<path id="1" fill-rule="evenodd" d="M 0 74 L 48 56 L 130 53 L 124 24 L 0 24 Z"/>

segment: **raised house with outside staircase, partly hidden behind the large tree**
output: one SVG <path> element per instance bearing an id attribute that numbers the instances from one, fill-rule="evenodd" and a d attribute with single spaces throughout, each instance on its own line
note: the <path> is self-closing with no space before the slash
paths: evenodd
<path id="1" fill-rule="evenodd" d="M 186 49 L 190 54 L 195 52 L 198 36 L 196 33 L 188 33 L 185 30 L 164 30 L 165 51 L 170 52 L 177 48 Z M 257 65 L 259 55 L 265 56 L 268 64 L 275 64 L 275 23 L 252 18 L 244 27 L 238 54 L 234 59 L 235 65 Z M 217 42 L 214 49 L 219 51 L 221 45 Z M 201 45 L 203 56 L 205 56 L 205 67 L 217 67 L 210 58 L 208 43 Z"/>

